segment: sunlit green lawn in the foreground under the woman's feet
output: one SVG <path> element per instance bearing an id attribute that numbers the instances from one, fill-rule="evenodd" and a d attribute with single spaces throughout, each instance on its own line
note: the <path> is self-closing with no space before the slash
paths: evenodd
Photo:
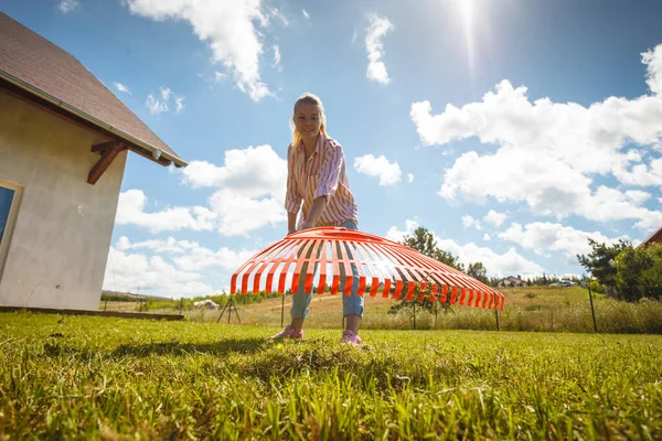
<path id="1" fill-rule="evenodd" d="M 0 438 L 661 439 L 662 337 L 0 315 Z"/>

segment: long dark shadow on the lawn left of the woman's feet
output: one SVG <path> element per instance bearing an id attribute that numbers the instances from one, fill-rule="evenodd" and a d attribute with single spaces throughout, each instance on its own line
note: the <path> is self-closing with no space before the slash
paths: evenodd
<path id="1" fill-rule="evenodd" d="M 122 344 L 110 356 L 148 357 L 150 355 L 225 355 L 228 353 L 254 354 L 270 346 L 264 338 L 227 338 L 215 343 L 163 342 L 150 344 Z"/>

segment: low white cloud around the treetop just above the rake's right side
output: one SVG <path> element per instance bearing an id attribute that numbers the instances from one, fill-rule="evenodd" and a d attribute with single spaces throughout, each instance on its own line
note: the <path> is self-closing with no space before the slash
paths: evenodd
<path id="1" fill-rule="evenodd" d="M 392 226 L 386 233 L 385 237 L 391 240 L 399 241 L 404 235 L 414 234 L 414 230 L 416 227 L 418 227 L 417 222 L 409 219 L 405 222 L 405 230 L 398 230 L 397 227 Z M 479 261 L 482 262 L 485 266 L 489 276 L 524 276 L 545 272 L 543 267 L 517 254 L 514 247 L 509 248 L 506 252 L 499 255 L 492 251 L 490 248 L 479 247 L 473 243 L 459 245 L 452 239 L 440 238 L 433 230 L 430 230 L 430 233 L 433 234 L 435 240 L 437 240 L 437 246 L 440 249 L 457 256 L 460 262 L 465 265 Z"/>

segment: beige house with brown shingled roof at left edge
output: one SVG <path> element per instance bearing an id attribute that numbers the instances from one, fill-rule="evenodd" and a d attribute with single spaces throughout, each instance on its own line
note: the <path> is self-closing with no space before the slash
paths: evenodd
<path id="1" fill-rule="evenodd" d="M 186 165 L 74 56 L 0 12 L 1 305 L 98 309 L 129 151 Z"/>

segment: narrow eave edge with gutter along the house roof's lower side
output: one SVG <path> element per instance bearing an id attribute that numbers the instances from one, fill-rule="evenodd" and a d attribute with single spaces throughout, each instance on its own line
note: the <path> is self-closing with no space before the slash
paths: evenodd
<path id="1" fill-rule="evenodd" d="M 136 138 L 136 137 L 118 129 L 115 126 L 111 126 L 98 118 L 95 118 L 92 115 L 89 115 L 89 114 L 61 100 L 61 99 L 57 99 L 54 96 L 50 95 L 49 93 L 46 93 L 38 87 L 34 87 L 31 84 L 25 83 L 25 82 L 21 80 L 20 78 L 17 78 L 15 76 L 8 74 L 7 72 L 1 71 L 1 69 L 0 69 L 0 78 L 8 80 L 9 83 L 13 84 L 14 86 L 20 87 L 21 89 L 41 98 L 41 99 L 44 99 L 66 111 L 77 116 L 78 118 L 82 118 L 104 130 L 109 131 L 110 133 L 124 139 L 125 141 L 127 141 L 131 144 L 135 144 L 137 147 L 140 147 L 140 148 L 151 152 L 153 162 L 157 162 L 160 165 L 163 165 L 163 164 L 158 161 L 159 158 L 164 158 L 164 159 L 171 161 L 173 164 L 175 164 L 175 166 L 189 165 L 189 163 L 186 161 L 184 161 L 183 159 L 181 159 L 177 155 L 170 154 L 168 152 L 164 152 L 161 149 L 153 147 L 152 144 L 150 144 L 148 142 L 145 142 L 141 139 Z"/>

